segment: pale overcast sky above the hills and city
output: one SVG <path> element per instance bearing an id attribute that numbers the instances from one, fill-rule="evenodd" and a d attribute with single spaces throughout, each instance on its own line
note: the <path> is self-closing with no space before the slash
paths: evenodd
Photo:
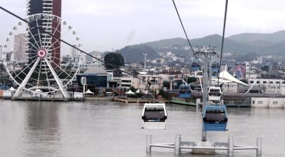
<path id="1" fill-rule="evenodd" d="M 190 39 L 222 34 L 225 0 L 176 0 Z M 0 0 L 25 16 L 26 0 Z M 284 0 L 229 0 L 226 36 L 285 29 Z M 172 0 L 62 0 L 62 18 L 78 32 L 86 51 L 183 37 Z M 18 21 L 0 10 L 0 41 Z"/>

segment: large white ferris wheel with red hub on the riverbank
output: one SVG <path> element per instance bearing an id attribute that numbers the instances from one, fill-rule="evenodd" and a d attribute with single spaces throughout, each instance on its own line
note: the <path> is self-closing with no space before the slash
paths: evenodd
<path id="1" fill-rule="evenodd" d="M 5 39 L 1 60 L 10 80 L 18 86 L 14 97 L 41 92 L 69 98 L 67 87 L 76 80 L 82 54 L 53 36 L 78 49 L 82 47 L 80 38 L 73 26 L 58 16 L 33 14 L 26 20 L 45 31 L 19 21 Z"/>

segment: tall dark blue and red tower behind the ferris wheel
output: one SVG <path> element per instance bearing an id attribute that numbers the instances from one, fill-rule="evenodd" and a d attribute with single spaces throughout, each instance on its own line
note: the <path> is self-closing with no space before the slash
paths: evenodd
<path id="1" fill-rule="evenodd" d="M 52 14 L 58 17 L 61 17 L 61 0 L 27 0 L 27 15 L 31 16 L 33 14 Z M 33 19 L 43 19 L 41 21 L 32 20 L 31 23 L 34 25 L 38 25 L 41 29 L 44 29 L 50 34 L 56 36 L 56 38 L 61 38 L 61 22 L 56 19 L 49 19 L 46 17 L 35 16 Z M 61 46 L 61 42 L 56 38 L 49 36 L 48 34 L 41 33 L 41 37 L 33 36 L 38 34 L 38 29 L 31 29 L 31 32 L 28 33 L 28 55 L 34 55 L 35 50 L 32 49 L 33 45 L 36 45 L 36 41 L 38 41 L 38 45 L 45 45 L 45 49 L 51 48 L 51 56 L 53 56 L 52 60 L 54 64 L 59 65 L 61 59 L 61 49 L 58 49 Z M 34 38 L 34 39 L 33 39 Z M 39 39 L 41 38 L 41 39 Z M 40 43 L 41 42 L 41 43 Z M 43 48 L 43 47 L 42 47 Z M 53 65 L 53 64 L 52 64 Z M 53 65 L 55 67 L 56 65 Z"/>

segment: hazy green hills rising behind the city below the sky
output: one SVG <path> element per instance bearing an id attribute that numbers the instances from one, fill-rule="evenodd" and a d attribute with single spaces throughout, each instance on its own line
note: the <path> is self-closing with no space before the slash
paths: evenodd
<path id="1" fill-rule="evenodd" d="M 204 36 L 199 39 L 191 39 L 190 43 L 195 46 L 217 46 L 221 50 L 222 36 L 217 34 Z M 158 53 L 172 51 L 180 56 L 192 56 L 192 52 L 185 49 L 189 46 L 187 39 L 174 38 L 151 41 L 144 44 L 125 46 L 116 52 L 122 54 L 127 63 L 142 62 L 143 53 L 147 53 L 147 59 L 156 59 Z M 277 31 L 273 34 L 237 34 L 224 39 L 224 52 L 247 55 L 273 54 L 283 56 L 285 53 L 285 31 Z"/>

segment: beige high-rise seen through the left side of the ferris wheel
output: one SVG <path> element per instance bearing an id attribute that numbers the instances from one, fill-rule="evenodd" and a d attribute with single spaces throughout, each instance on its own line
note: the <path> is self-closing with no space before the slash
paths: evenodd
<path id="1" fill-rule="evenodd" d="M 26 34 L 14 35 L 14 59 L 16 61 L 23 61 L 26 53 Z"/>

